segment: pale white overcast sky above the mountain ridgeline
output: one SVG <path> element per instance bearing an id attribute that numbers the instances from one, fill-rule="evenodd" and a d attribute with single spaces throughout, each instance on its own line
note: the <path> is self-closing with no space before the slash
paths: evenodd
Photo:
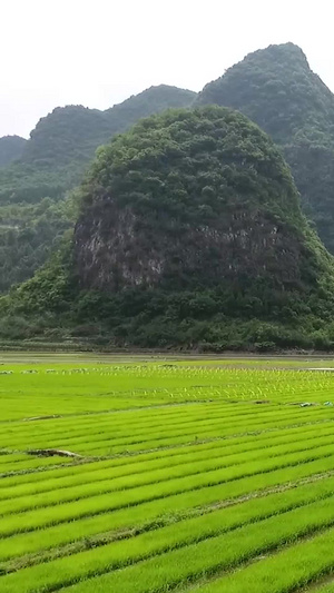
<path id="1" fill-rule="evenodd" d="M 200 90 L 293 41 L 334 91 L 331 0 L 0 0 L 0 136 L 57 106 L 107 109 L 151 85 Z"/>

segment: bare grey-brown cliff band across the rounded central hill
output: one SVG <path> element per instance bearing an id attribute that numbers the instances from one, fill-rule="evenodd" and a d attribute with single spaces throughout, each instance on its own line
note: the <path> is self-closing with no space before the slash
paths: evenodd
<path id="1" fill-rule="evenodd" d="M 173 245 L 173 249 L 170 247 Z M 76 260 L 84 288 L 110 291 L 125 287 L 174 288 L 275 275 L 279 284 L 302 280 L 305 250 L 285 225 L 259 211 L 222 216 L 209 225 L 174 226 L 155 235 L 131 209 L 100 201 L 76 227 Z"/>

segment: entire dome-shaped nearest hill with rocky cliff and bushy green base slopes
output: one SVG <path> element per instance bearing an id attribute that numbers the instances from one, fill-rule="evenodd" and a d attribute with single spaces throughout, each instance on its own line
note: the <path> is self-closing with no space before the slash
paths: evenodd
<path id="1" fill-rule="evenodd" d="M 2 298 L 3 337 L 20 314 L 26 336 L 53 316 L 55 330 L 114 345 L 333 343 L 333 257 L 279 150 L 242 113 L 140 120 L 98 150 L 77 198 L 72 238 Z"/>

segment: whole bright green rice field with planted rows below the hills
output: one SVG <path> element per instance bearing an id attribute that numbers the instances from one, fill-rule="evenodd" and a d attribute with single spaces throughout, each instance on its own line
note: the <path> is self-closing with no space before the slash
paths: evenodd
<path id="1" fill-rule="evenodd" d="M 0 354 L 0 592 L 334 593 L 331 368 Z"/>

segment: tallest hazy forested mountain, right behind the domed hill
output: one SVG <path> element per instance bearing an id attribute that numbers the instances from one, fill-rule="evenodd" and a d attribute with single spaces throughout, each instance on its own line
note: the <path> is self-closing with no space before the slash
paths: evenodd
<path id="1" fill-rule="evenodd" d="M 197 105 L 238 109 L 272 136 L 292 167 L 305 214 L 334 253 L 334 95 L 293 43 L 249 53 L 209 82 Z"/>

